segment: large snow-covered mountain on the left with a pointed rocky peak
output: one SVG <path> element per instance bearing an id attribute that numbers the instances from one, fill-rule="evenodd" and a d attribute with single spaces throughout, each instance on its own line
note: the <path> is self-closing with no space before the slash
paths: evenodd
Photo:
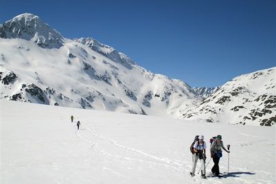
<path id="1" fill-rule="evenodd" d="M 173 117 L 201 101 L 183 81 L 95 39 L 66 39 L 34 14 L 1 24 L 0 37 L 0 99 Z"/>

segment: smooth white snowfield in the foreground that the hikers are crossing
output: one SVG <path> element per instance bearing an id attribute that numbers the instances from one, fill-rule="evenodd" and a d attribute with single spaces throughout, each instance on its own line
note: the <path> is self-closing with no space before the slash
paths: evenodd
<path id="1" fill-rule="evenodd" d="M 276 183 L 275 127 L 0 101 L 0 183 Z M 74 115 L 74 123 L 70 116 Z M 81 121 L 81 130 L 76 130 Z M 221 134 L 223 178 L 190 178 L 190 142 Z M 210 148 L 207 143 L 207 149 Z M 207 160 L 210 159 L 207 154 Z M 221 172 L 227 172 L 223 152 Z M 213 161 L 206 169 L 209 173 Z"/>

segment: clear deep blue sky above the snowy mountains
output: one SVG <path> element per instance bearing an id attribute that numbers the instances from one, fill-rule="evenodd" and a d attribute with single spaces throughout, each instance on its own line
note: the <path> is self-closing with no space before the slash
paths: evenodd
<path id="1" fill-rule="evenodd" d="M 276 66 L 276 1 L 7 1 L 0 22 L 30 12 L 64 37 L 92 37 L 151 72 L 215 87 Z"/>

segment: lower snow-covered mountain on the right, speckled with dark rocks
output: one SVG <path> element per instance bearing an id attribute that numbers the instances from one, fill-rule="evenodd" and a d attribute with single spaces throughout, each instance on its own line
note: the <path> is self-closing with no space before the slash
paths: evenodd
<path id="1" fill-rule="evenodd" d="M 237 76 L 202 103 L 183 114 L 184 119 L 243 125 L 275 125 L 276 68 Z"/>

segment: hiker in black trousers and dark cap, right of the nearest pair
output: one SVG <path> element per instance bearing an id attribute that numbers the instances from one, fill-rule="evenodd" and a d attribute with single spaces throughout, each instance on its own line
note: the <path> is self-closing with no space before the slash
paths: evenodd
<path id="1" fill-rule="evenodd" d="M 212 168 L 213 174 L 219 177 L 219 159 L 222 156 L 221 148 L 224 149 L 226 152 L 230 153 L 228 150 L 225 149 L 224 143 L 221 141 L 221 135 L 217 135 L 215 141 L 213 141 L 210 147 L 210 154 L 213 158 L 215 165 Z"/>

